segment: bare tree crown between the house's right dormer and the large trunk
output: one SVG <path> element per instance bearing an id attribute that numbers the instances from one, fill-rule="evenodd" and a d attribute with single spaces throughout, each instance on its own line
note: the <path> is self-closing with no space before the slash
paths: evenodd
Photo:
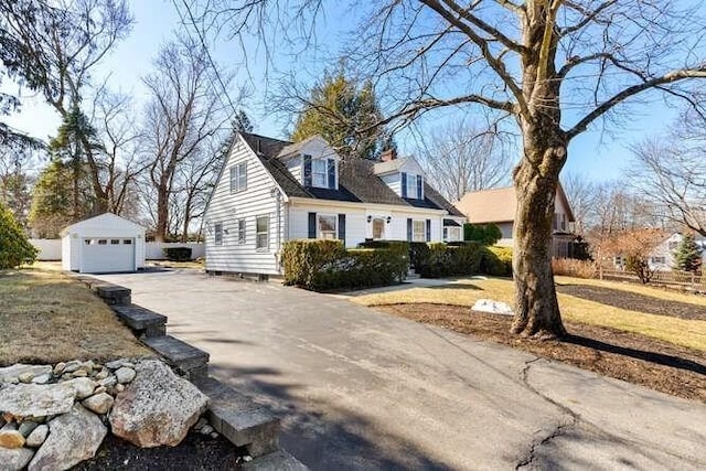
<path id="1" fill-rule="evenodd" d="M 494 127 L 483 129 L 463 120 L 449 124 L 422 137 L 419 152 L 434 186 L 449 201 L 510 183 L 514 156 Z"/>

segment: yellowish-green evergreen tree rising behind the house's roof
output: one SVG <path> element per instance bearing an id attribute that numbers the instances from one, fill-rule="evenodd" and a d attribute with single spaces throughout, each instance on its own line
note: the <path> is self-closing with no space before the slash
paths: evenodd
<path id="1" fill-rule="evenodd" d="M 374 125 L 383 119 L 373 84 L 362 85 L 343 71 L 327 73 L 307 99 L 291 139 L 302 141 L 314 135 L 325 139 L 342 157 L 374 159 L 392 138 Z"/>

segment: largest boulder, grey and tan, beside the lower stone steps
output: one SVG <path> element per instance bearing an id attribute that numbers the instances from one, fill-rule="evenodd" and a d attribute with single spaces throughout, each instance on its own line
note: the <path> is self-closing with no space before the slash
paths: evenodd
<path id="1" fill-rule="evenodd" d="M 147 360 L 135 370 L 135 379 L 113 406 L 113 433 L 141 448 L 179 445 L 206 410 L 208 397 L 162 362 Z"/>

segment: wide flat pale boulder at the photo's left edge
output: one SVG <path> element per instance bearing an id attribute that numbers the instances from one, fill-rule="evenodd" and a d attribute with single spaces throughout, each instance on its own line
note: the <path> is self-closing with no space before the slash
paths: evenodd
<path id="1" fill-rule="evenodd" d="M 0 389 L 0 413 L 15 417 L 66 414 L 74 405 L 74 387 L 57 384 L 11 384 Z"/>

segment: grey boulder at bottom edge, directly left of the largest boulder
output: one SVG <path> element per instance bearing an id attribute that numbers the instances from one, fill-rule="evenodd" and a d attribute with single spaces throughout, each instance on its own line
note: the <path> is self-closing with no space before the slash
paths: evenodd
<path id="1" fill-rule="evenodd" d="M 28 471 L 67 470 L 90 459 L 108 429 L 98 416 L 75 404 L 68 414 L 49 422 L 50 433 Z"/>

